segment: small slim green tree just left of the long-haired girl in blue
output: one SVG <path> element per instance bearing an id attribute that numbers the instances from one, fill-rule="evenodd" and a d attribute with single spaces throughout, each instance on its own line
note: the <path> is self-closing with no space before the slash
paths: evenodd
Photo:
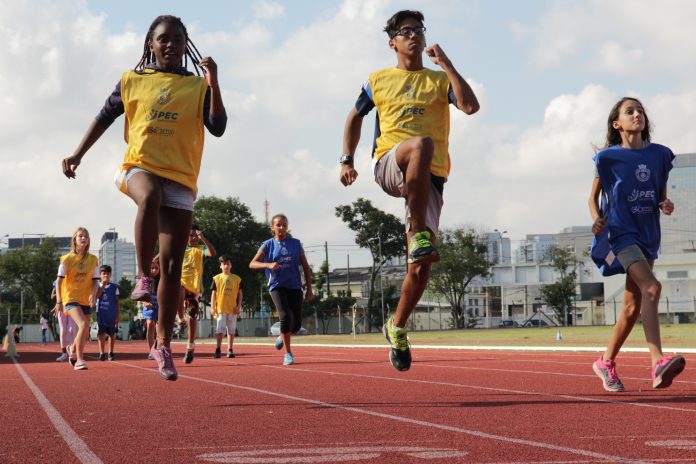
<path id="1" fill-rule="evenodd" d="M 561 324 L 567 325 L 576 295 L 578 260 L 573 253 L 557 245 L 546 251 L 544 259 L 551 263 L 559 277 L 556 282 L 541 287 L 542 298 L 556 313 Z"/>

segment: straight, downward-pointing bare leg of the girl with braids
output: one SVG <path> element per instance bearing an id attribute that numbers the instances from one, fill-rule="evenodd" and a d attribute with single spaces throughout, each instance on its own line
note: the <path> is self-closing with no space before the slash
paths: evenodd
<path id="1" fill-rule="evenodd" d="M 160 284 L 157 290 L 159 319 L 157 337 L 169 348 L 174 321 L 179 308 L 181 265 L 188 242 L 193 213 L 183 209 L 162 207 L 159 212 Z"/>

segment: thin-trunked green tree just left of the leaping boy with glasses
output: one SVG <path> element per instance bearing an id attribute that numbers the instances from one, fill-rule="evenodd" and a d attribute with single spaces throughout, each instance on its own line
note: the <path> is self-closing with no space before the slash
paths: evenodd
<path id="1" fill-rule="evenodd" d="M 352 205 L 337 206 L 336 217 L 355 232 L 355 243 L 360 248 L 367 248 L 372 255 L 367 299 L 368 331 L 372 331 L 373 326 L 382 325 L 381 304 L 378 307 L 375 305 L 375 280 L 388 260 L 406 254 L 404 225 L 398 217 L 375 208 L 365 198 L 358 198 Z"/>

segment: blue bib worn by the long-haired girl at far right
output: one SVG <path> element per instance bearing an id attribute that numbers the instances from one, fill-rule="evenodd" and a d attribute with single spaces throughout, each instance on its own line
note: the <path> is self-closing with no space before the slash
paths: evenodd
<path id="1" fill-rule="evenodd" d="M 607 226 L 614 254 L 638 245 L 645 257 L 657 259 L 660 208 L 674 154 L 656 143 L 641 149 L 615 145 L 594 157 L 609 203 Z"/>

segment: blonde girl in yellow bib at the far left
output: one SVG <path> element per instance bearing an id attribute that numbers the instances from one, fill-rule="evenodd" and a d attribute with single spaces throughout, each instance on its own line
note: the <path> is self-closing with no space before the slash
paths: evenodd
<path id="1" fill-rule="evenodd" d="M 78 227 L 72 238 L 71 251 L 61 256 L 56 287 L 56 316 L 67 313 L 77 325 L 77 335 L 68 345 L 68 360 L 76 371 L 87 369 L 84 350 L 89 333 L 89 319 L 96 304 L 99 288 L 99 260 L 89 253 L 89 232 Z"/>

